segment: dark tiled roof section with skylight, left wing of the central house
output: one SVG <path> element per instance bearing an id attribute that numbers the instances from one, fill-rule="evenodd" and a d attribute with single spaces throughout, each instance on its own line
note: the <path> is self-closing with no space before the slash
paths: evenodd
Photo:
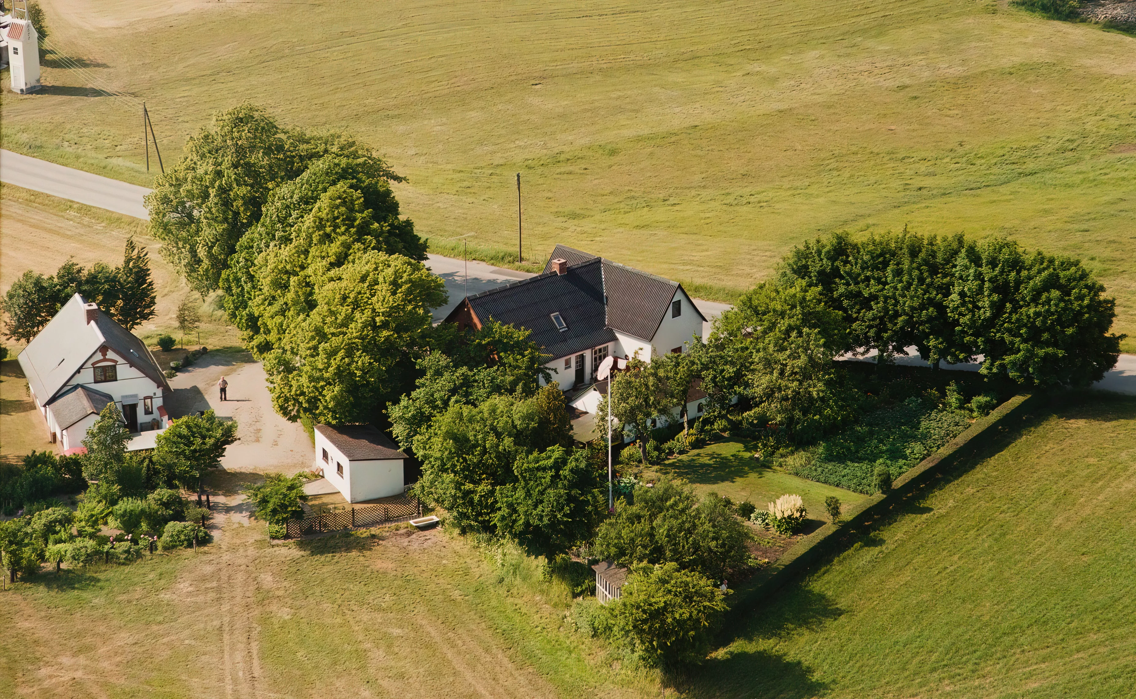
<path id="1" fill-rule="evenodd" d="M 593 258 L 569 267 L 568 273 L 532 277 L 468 297 L 477 318 L 527 328 L 532 339 L 553 357 L 568 356 L 615 342 L 603 311 L 602 262 Z M 552 313 L 568 326 L 558 330 Z"/>

